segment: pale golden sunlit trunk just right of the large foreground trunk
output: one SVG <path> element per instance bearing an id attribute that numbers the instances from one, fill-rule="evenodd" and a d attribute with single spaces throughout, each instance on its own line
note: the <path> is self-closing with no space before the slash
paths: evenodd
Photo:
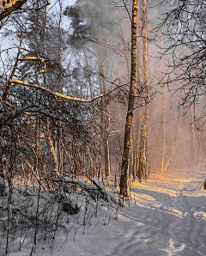
<path id="1" fill-rule="evenodd" d="M 140 148 L 139 148 L 139 165 L 137 170 L 137 177 L 139 180 L 147 178 L 148 165 L 148 115 L 149 115 L 149 101 L 150 94 L 148 88 L 148 26 L 147 26 L 147 1 L 142 1 L 142 48 L 143 48 L 143 83 L 146 92 L 145 111 L 142 120 Z"/>

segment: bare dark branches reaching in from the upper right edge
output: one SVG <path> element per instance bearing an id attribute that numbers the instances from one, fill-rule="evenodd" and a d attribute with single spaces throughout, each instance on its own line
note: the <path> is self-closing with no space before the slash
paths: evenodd
<path id="1" fill-rule="evenodd" d="M 185 112 L 194 107 L 195 120 L 206 116 L 206 2 L 204 0 L 174 0 L 167 3 L 168 11 L 159 28 L 165 39 L 162 55 L 168 56 L 164 82 L 173 93 L 183 96 L 179 106 Z M 162 80 L 163 81 L 163 80 Z M 180 93 L 181 92 L 181 93 Z M 197 108 L 201 109 L 197 111 Z"/>

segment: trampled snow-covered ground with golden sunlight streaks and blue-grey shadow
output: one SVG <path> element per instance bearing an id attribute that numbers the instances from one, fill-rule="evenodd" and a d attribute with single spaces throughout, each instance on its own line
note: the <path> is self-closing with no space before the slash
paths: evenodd
<path id="1" fill-rule="evenodd" d="M 33 256 L 199 256 L 206 255 L 205 168 L 153 174 L 131 188 L 124 208 L 100 206 L 95 215 L 82 210 L 70 216 L 66 229 L 58 229 L 50 241 L 39 240 Z M 92 204 L 88 204 L 89 207 Z M 9 256 L 29 256 L 29 235 L 21 252 Z"/>

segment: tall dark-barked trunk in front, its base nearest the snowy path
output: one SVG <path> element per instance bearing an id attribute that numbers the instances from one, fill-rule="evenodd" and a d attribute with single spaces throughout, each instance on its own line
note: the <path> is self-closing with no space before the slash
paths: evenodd
<path id="1" fill-rule="evenodd" d="M 133 118 L 133 109 L 135 104 L 136 90 L 136 21 L 137 21 L 137 0 L 132 4 L 131 21 L 131 69 L 130 69 L 130 94 L 128 102 L 128 111 L 124 131 L 124 152 L 122 158 L 121 177 L 120 177 L 120 195 L 130 196 L 129 168 L 130 168 L 130 137 Z"/>

